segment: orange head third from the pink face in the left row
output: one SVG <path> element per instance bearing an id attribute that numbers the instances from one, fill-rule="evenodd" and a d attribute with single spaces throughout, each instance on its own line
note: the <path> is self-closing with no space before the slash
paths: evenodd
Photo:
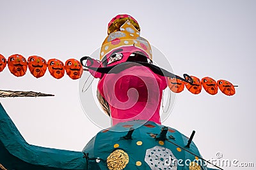
<path id="1" fill-rule="evenodd" d="M 33 76 L 40 78 L 45 74 L 47 63 L 42 57 L 33 55 L 28 57 L 28 68 Z"/>

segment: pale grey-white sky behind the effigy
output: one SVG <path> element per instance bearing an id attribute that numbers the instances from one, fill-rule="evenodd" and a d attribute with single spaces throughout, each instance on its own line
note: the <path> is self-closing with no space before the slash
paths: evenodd
<path id="1" fill-rule="evenodd" d="M 211 96 L 205 90 L 196 96 L 185 89 L 176 95 L 172 113 L 163 125 L 186 136 L 195 130 L 193 141 L 205 159 L 216 158 L 216 153 L 221 152 L 223 159 L 254 161 L 256 166 L 255 5 L 256 1 L 249 0 L 0 0 L 0 53 L 6 59 L 15 53 L 26 59 L 30 55 L 63 62 L 80 59 L 100 47 L 111 18 L 128 13 L 138 20 L 141 36 L 170 61 L 172 68 L 166 69 L 180 76 L 210 76 L 239 85 L 232 97 L 220 91 Z M 154 53 L 153 60 L 157 60 Z M 161 61 L 157 60 L 157 64 L 161 66 Z M 17 78 L 8 67 L 0 73 L 0 80 L 0 89 L 55 94 L 0 99 L 29 144 L 81 151 L 100 131 L 81 107 L 79 80 L 67 75 L 56 80 L 48 71 L 36 79 L 29 70 Z"/>

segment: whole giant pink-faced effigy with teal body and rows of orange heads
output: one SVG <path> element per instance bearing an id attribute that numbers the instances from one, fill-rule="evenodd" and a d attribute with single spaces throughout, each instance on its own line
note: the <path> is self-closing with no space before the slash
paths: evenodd
<path id="1" fill-rule="evenodd" d="M 1 57 L 6 65 L 6 59 Z M 168 87 L 179 93 L 186 87 L 189 92 L 199 94 L 203 86 L 212 95 L 218 89 L 228 96 L 236 92 L 234 85 L 226 80 L 209 77 L 200 80 L 188 74 L 182 78 L 154 65 L 150 43 L 140 36 L 140 25 L 130 15 L 117 15 L 109 22 L 100 60 L 82 57 L 80 62 L 70 59 L 63 64 L 58 59 L 46 62 L 42 57 L 32 56 L 27 62 L 21 55 L 12 55 L 7 64 L 15 76 L 24 75 L 27 68 L 24 66 L 28 65 L 36 78 L 44 76 L 48 67 L 54 78 L 63 77 L 66 70 L 75 80 L 81 77 L 84 67 L 94 78 L 99 78 L 97 98 L 111 117 L 111 127 L 98 132 L 81 152 L 44 148 L 29 145 L 0 106 L 0 169 L 211 169 L 193 143 L 195 131 L 188 138 L 161 124 L 163 90 Z M 0 94 L 15 96 L 11 91 Z"/>

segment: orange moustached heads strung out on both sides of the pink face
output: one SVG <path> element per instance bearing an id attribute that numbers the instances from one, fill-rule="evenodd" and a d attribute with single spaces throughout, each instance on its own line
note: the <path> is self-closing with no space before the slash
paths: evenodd
<path id="1" fill-rule="evenodd" d="M 30 56 L 27 61 L 25 57 L 19 54 L 11 55 L 8 57 L 8 60 L 0 54 L 0 72 L 3 71 L 7 65 L 10 72 L 17 77 L 24 76 L 27 68 L 29 68 L 30 73 L 35 76 L 35 78 L 40 78 L 44 76 L 47 67 L 51 76 L 56 79 L 62 78 L 65 71 L 73 80 L 81 78 L 83 74 L 83 67 L 76 59 L 68 59 L 64 65 L 61 60 L 49 59 L 48 62 L 46 62 L 44 58 L 36 55 Z M 168 87 L 175 93 L 182 92 L 184 87 L 186 87 L 192 94 L 199 94 L 202 87 L 204 87 L 205 91 L 211 95 L 217 94 L 218 89 L 227 96 L 232 96 L 236 93 L 234 85 L 227 80 L 215 81 L 209 77 L 200 80 L 196 76 L 191 76 L 191 78 L 193 78 L 193 85 L 176 78 L 168 78 Z"/>

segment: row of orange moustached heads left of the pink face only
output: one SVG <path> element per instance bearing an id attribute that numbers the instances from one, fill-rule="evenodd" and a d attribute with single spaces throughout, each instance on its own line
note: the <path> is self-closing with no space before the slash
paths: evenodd
<path id="1" fill-rule="evenodd" d="M 47 68 L 51 76 L 56 79 L 62 78 L 65 71 L 73 80 L 81 78 L 83 74 L 83 67 L 76 59 L 68 59 L 64 64 L 58 59 L 49 59 L 46 61 L 44 58 L 36 55 L 30 56 L 28 60 L 26 60 L 26 58 L 20 54 L 13 54 L 6 60 L 5 57 L 0 54 L 0 72 L 3 71 L 6 65 L 8 65 L 10 72 L 17 77 L 24 76 L 28 68 L 30 73 L 36 78 L 44 76 Z"/>

